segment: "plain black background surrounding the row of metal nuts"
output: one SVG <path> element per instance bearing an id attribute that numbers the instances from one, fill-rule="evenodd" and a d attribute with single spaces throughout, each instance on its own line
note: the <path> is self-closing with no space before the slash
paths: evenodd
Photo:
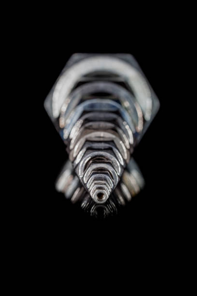
<path id="1" fill-rule="evenodd" d="M 7 37 L 2 47 L 8 54 L 1 55 L 8 70 L 7 75 L 3 73 L 8 87 L 2 85 L 6 90 L 2 101 L 10 104 L 2 130 L 12 141 L 11 152 L 2 154 L 2 161 L 11 155 L 18 161 L 16 166 L 8 166 L 8 173 L 2 170 L 9 182 L 6 188 L 2 182 L 1 191 L 1 200 L 8 201 L 6 208 L 1 207 L 6 214 L 2 223 L 6 232 L 2 244 L 6 243 L 8 251 L 8 255 L 2 252 L 6 289 L 27 286 L 38 293 L 38 284 L 44 292 L 54 284 L 57 292 L 62 283 L 67 292 L 73 280 L 72 294 L 76 287 L 86 292 L 91 284 L 93 293 L 99 288 L 104 293 L 104 284 L 111 293 L 120 284 L 121 294 L 126 294 L 133 292 L 136 282 L 137 291 L 144 288 L 158 294 L 158 290 L 166 290 L 169 294 L 179 287 L 183 292 L 185 274 L 192 270 L 184 268 L 184 263 L 194 259 L 188 259 L 190 234 L 185 233 L 194 224 L 186 223 L 190 214 L 186 201 L 195 194 L 183 194 L 191 184 L 185 175 L 192 175 L 183 169 L 183 161 L 188 162 L 190 154 L 185 155 L 185 148 L 191 139 L 193 104 L 189 104 L 188 121 L 184 108 L 194 96 L 184 96 L 183 89 L 187 76 L 191 79 L 193 75 L 183 67 L 190 63 L 190 40 L 196 36 L 191 30 L 196 19 L 193 7 L 150 1 L 43 4 L 16 2 L 8 3 L 7 12 L 2 9 L 5 20 L 1 29 Z M 92 219 L 55 190 L 67 154 L 43 102 L 67 60 L 77 52 L 131 53 L 160 101 L 159 112 L 133 154 L 146 186 L 112 219 Z M 195 70 L 193 61 L 191 65 Z M 182 113 L 179 106 L 183 106 Z M 16 120 L 10 116 L 13 109 Z M 7 142 L 4 145 L 8 147 Z M 7 225 L 11 226 L 8 230 Z M 187 294 L 190 286 L 186 284 Z"/>

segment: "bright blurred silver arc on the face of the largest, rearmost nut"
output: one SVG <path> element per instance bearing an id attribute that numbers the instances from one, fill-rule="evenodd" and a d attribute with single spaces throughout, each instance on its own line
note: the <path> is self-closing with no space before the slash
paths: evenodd
<path id="1" fill-rule="evenodd" d="M 69 96 L 70 91 L 80 78 L 92 72 L 107 72 L 122 76 L 133 90 L 134 95 L 141 105 L 144 118 L 150 119 L 152 110 L 152 98 L 149 86 L 134 67 L 121 59 L 113 56 L 98 55 L 89 57 L 72 65 L 63 73 L 56 83 L 53 92 L 53 116 L 57 118 L 64 99 Z"/>

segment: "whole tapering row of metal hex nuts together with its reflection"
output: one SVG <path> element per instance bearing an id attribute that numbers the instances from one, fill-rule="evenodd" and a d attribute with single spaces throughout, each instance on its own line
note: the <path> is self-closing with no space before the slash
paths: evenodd
<path id="1" fill-rule="evenodd" d="M 159 101 L 131 55 L 72 55 L 44 106 L 70 159 L 57 191 L 95 216 L 113 214 L 140 192 L 144 180 L 131 154 Z"/>

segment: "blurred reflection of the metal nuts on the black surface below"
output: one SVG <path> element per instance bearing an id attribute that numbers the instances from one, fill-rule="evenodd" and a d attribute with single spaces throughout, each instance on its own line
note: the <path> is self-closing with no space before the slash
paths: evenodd
<path id="1" fill-rule="evenodd" d="M 71 163 L 68 161 L 56 181 L 56 190 L 64 193 L 67 199 L 70 199 L 73 204 L 77 203 L 91 216 L 97 218 L 105 218 L 117 213 L 119 207 L 125 206 L 133 196 L 138 194 L 144 187 L 144 179 L 141 171 L 134 161 L 130 159 L 122 178 L 109 199 L 105 198 L 100 191 L 97 194 L 99 200 L 94 200 L 84 190 L 79 179 L 74 177 L 75 173 Z M 98 196 L 99 195 L 99 196 Z"/>

